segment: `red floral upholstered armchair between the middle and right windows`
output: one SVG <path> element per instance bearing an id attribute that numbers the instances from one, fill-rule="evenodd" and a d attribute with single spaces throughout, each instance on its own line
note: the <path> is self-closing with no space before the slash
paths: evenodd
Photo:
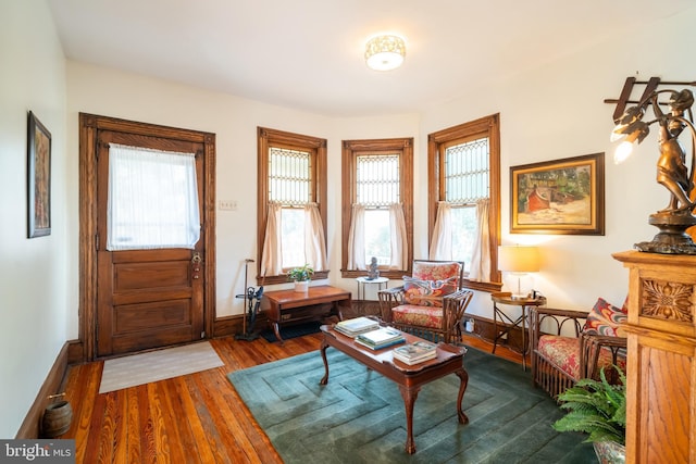
<path id="1" fill-rule="evenodd" d="M 473 297 L 463 290 L 464 263 L 413 261 L 413 274 L 401 287 L 380 291 L 380 311 L 385 323 L 433 341 L 452 342 L 461 336 L 461 318 Z"/>

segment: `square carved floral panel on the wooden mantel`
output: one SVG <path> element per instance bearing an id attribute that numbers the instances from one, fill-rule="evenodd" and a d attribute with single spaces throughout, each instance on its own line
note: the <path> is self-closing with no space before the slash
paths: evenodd
<path id="1" fill-rule="evenodd" d="M 679 322 L 694 321 L 694 286 L 663 280 L 643 280 L 641 315 Z"/>

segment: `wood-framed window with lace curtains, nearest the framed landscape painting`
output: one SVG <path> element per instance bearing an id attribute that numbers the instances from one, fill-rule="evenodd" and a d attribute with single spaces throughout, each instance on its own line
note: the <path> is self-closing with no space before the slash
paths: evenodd
<path id="1" fill-rule="evenodd" d="M 497 114 L 428 135 L 428 258 L 463 261 L 467 287 L 500 288 Z"/>

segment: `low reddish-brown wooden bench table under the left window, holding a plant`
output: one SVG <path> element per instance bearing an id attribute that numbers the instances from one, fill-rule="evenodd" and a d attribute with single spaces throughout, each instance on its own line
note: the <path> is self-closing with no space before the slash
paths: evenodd
<path id="1" fill-rule="evenodd" d="M 343 319 L 341 308 L 350 308 L 350 292 L 340 288 L 320 285 L 309 287 L 307 292 L 289 290 L 266 291 L 261 299 L 261 309 L 269 312 L 275 338 L 281 338 L 281 324 L 297 324 L 319 321 L 327 315 Z M 331 304 L 326 309 L 327 303 Z"/>

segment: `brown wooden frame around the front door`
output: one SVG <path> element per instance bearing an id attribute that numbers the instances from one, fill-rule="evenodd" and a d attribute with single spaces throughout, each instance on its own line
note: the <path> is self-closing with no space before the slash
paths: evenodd
<path id="1" fill-rule="evenodd" d="M 114 117 L 79 113 L 79 340 L 71 343 L 70 362 L 94 361 L 97 347 L 97 143 L 100 130 L 127 131 L 203 143 L 204 338 L 215 316 L 215 135 Z"/>

